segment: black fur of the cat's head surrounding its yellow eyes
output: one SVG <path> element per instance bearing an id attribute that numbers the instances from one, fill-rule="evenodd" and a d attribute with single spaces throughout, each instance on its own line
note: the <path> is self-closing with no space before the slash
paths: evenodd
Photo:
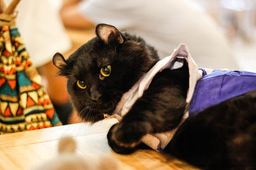
<path id="1" fill-rule="evenodd" d="M 106 44 L 95 37 L 67 60 L 63 60 L 60 53 L 53 57 L 60 75 L 68 78 L 67 89 L 72 103 L 86 121 L 96 122 L 104 118 L 103 113 L 111 114 L 124 92 L 159 60 L 156 50 L 146 45 L 143 39 L 125 33 L 122 38 L 124 43 Z M 100 80 L 100 68 L 109 64 L 112 69 L 110 76 Z M 77 80 L 85 81 L 87 88 L 79 89 Z M 93 94 L 100 94 L 98 101 L 93 101 Z"/>

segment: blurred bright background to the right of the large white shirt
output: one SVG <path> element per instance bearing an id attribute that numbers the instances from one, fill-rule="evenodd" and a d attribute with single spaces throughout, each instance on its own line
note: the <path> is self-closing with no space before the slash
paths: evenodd
<path id="1" fill-rule="evenodd" d="M 212 17 L 228 39 L 239 67 L 256 72 L 256 1 L 186 0 L 195 10 Z"/>

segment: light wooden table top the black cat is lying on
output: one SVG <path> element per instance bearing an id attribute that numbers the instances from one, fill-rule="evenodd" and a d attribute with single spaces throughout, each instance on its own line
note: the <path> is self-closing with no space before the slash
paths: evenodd
<path id="1" fill-rule="evenodd" d="M 109 119 L 93 125 L 79 123 L 1 135 L 0 169 L 29 169 L 58 157 L 58 141 L 65 136 L 76 141 L 76 154 L 95 158 L 111 155 L 118 160 L 119 169 L 196 169 L 154 150 L 139 150 L 131 155 L 114 153 L 108 146 L 106 134 L 115 122 Z"/>

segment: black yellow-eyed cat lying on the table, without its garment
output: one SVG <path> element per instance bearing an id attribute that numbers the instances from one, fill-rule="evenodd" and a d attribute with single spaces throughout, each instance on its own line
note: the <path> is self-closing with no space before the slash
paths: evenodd
<path id="1" fill-rule="evenodd" d="M 159 60 L 157 52 L 136 36 L 100 24 L 97 37 L 67 61 L 53 62 L 68 78 L 68 92 L 85 120 L 111 115 L 122 95 Z M 180 124 L 189 88 L 188 64 L 157 73 L 143 96 L 108 133 L 109 146 L 131 153 L 148 133 L 166 132 Z M 255 169 L 256 93 L 236 97 L 188 118 L 165 151 L 207 169 Z M 248 146 L 247 146 L 248 145 Z"/>

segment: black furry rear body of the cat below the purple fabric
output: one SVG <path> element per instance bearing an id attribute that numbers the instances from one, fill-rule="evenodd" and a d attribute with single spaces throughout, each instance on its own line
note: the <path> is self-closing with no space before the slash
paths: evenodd
<path id="1" fill-rule="evenodd" d="M 165 150 L 204 169 L 255 169 L 256 91 L 189 117 Z"/>

